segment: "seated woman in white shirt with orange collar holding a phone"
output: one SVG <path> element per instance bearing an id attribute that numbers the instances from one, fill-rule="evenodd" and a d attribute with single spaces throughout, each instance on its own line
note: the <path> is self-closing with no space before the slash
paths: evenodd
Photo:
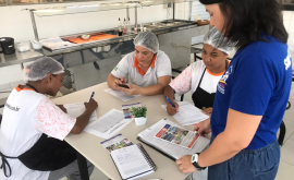
<path id="1" fill-rule="evenodd" d="M 110 88 L 122 91 L 127 95 L 162 94 L 171 81 L 171 61 L 159 50 L 159 43 L 151 32 L 139 33 L 135 39 L 135 51 L 127 53 L 108 75 Z M 126 77 L 133 84 L 127 87 Z"/>

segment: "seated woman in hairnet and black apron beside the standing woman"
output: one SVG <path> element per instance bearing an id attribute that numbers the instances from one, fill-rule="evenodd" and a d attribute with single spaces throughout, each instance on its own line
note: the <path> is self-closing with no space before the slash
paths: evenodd
<path id="1" fill-rule="evenodd" d="M 174 93 L 181 96 L 191 91 L 194 105 L 211 115 L 217 84 L 230 63 L 226 58 L 232 50 L 234 44 L 217 28 L 211 28 L 204 37 L 203 61 L 192 63 L 164 88 L 164 96 L 175 105 L 174 108 L 167 101 L 168 113 L 173 116 L 179 111 Z"/>

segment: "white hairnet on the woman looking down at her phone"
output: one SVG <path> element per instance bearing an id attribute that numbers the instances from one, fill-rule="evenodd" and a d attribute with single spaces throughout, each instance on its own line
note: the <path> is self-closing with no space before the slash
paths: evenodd
<path id="1" fill-rule="evenodd" d="M 142 32 L 134 39 L 135 46 L 142 46 L 156 53 L 159 49 L 159 43 L 156 35 L 151 32 Z"/>

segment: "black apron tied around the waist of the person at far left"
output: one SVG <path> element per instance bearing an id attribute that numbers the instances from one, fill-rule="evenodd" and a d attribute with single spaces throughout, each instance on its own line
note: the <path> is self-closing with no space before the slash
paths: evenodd
<path id="1" fill-rule="evenodd" d="M 38 93 L 34 86 L 29 84 L 26 85 Z M 12 171 L 7 158 L 19 158 L 20 161 L 32 170 L 53 171 L 73 163 L 76 159 L 76 151 L 65 141 L 48 137 L 46 134 L 42 134 L 28 151 L 19 157 L 5 156 L 1 152 L 0 156 L 2 159 L 0 168 L 3 168 L 5 177 L 10 177 Z M 7 169 L 7 167 L 9 169 Z"/>

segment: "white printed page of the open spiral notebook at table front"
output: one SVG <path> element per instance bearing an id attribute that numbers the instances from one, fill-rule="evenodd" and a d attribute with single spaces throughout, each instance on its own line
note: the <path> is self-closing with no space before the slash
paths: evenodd
<path id="1" fill-rule="evenodd" d="M 110 154 L 122 176 L 122 179 L 127 179 L 143 172 L 154 171 L 137 145 L 115 149 Z"/>

